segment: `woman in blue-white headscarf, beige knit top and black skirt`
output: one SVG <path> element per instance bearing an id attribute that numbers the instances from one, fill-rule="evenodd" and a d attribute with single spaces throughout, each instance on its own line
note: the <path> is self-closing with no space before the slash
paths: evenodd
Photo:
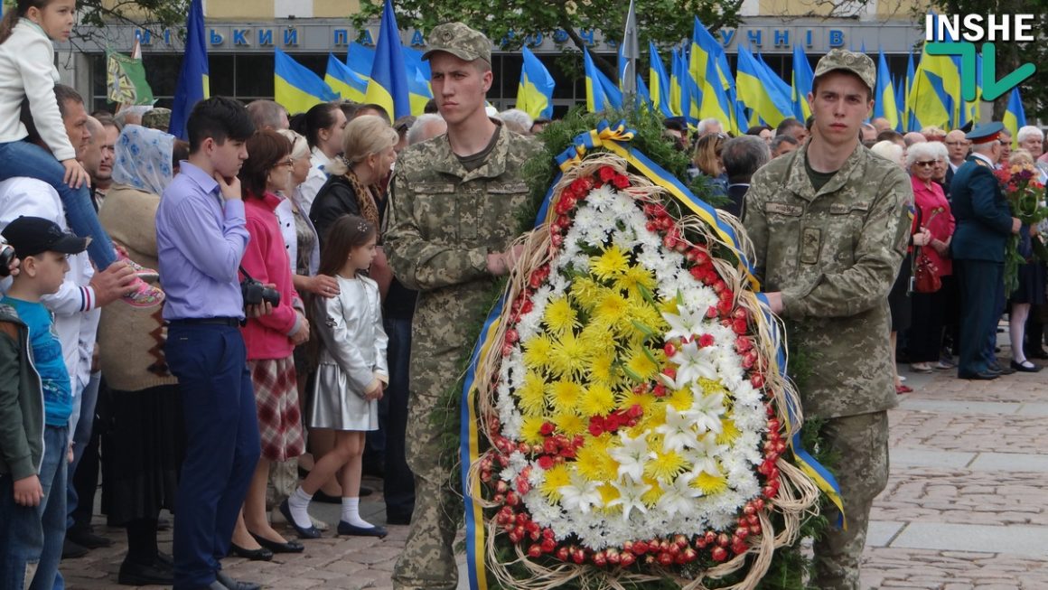
<path id="1" fill-rule="evenodd" d="M 161 131 L 125 127 L 116 140 L 113 185 L 99 214 L 128 257 L 150 268 L 159 268 L 154 220 L 160 194 L 173 177 L 174 141 Z M 171 585 L 171 559 L 157 550 L 156 525 L 160 508 L 174 507 L 184 434 L 177 379 L 163 355 L 160 308 L 103 308 L 97 337 L 102 372 L 111 390 L 109 428 L 102 439 L 103 504 L 109 524 L 125 527 L 128 537 L 117 580 Z"/>

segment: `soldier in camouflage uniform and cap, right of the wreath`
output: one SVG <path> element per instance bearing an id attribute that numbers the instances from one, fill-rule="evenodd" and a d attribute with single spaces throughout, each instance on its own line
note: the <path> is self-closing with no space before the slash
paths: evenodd
<path id="1" fill-rule="evenodd" d="M 805 416 L 826 420 L 823 441 L 840 456 L 847 529 L 816 540 L 812 585 L 855 589 L 870 506 L 888 482 L 887 411 L 897 403 L 888 292 L 913 191 L 901 168 L 859 144 L 873 61 L 833 49 L 814 73 L 811 138 L 754 175 L 743 223 L 771 309 L 795 325 L 790 345 L 810 357 Z M 835 523 L 836 509 L 827 517 Z"/>

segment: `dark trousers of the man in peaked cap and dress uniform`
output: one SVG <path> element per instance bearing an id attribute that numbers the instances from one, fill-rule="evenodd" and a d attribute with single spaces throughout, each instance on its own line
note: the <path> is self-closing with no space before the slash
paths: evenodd
<path id="1" fill-rule="evenodd" d="M 1001 316 L 998 291 L 1002 289 L 1004 265 L 986 260 L 955 260 L 954 274 L 961 293 L 961 343 L 957 375 L 970 377 L 989 368 L 994 348 L 986 347 Z"/>

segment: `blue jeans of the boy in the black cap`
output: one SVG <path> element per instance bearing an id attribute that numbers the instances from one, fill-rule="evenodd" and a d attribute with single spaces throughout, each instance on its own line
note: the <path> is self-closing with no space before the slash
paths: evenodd
<path id="1" fill-rule="evenodd" d="M 65 541 L 66 450 L 69 429 L 44 428 L 40 485 L 44 499 L 34 507 L 15 503 L 10 474 L 0 476 L 0 588 L 51 590 L 62 586 L 59 562 Z"/>

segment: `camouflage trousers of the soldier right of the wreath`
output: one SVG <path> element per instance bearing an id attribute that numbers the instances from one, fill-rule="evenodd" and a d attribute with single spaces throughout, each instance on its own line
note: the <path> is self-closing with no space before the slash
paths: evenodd
<path id="1" fill-rule="evenodd" d="M 847 530 L 836 528 L 839 511 L 826 512 L 830 529 L 815 540 L 815 578 L 822 590 L 858 590 L 859 561 L 866 545 L 873 499 L 888 485 L 888 412 L 826 420 L 822 444 L 839 453 L 836 479 Z"/>

